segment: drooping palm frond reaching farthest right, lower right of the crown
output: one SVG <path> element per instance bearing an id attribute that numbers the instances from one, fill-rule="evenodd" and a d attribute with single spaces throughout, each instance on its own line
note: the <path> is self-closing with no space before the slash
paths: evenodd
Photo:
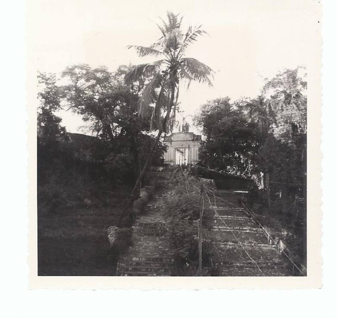
<path id="1" fill-rule="evenodd" d="M 184 69 L 183 72 L 185 72 L 183 74 L 181 73 L 182 78 L 187 79 L 189 82 L 192 79 L 193 81 L 207 83 L 209 86 L 213 86 L 210 77 L 213 79 L 214 71 L 206 64 L 193 58 L 182 58 L 181 66 Z"/>

